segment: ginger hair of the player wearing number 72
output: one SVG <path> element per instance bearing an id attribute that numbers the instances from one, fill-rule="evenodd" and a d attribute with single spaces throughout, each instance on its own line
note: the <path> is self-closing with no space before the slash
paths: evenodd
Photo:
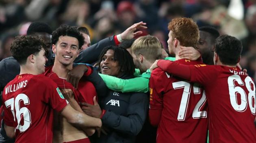
<path id="1" fill-rule="evenodd" d="M 168 29 L 172 31 L 171 37 L 178 39 L 182 46 L 193 46 L 199 40 L 199 29 L 191 18 L 175 18 L 169 22 Z"/>

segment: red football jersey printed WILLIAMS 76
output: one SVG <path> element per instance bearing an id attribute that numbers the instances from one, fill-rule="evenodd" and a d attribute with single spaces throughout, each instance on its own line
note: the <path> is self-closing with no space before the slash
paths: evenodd
<path id="1" fill-rule="evenodd" d="M 4 123 L 15 127 L 16 143 L 52 143 L 53 109 L 68 102 L 58 86 L 43 74 L 22 74 L 3 91 Z"/>

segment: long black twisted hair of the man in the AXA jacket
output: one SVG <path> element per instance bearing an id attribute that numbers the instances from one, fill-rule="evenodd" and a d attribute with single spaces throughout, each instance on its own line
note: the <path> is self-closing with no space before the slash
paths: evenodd
<path id="1" fill-rule="evenodd" d="M 100 65 L 102 57 L 106 54 L 108 50 L 114 51 L 114 60 L 118 61 L 122 73 L 128 76 L 132 76 L 135 72 L 135 65 L 133 63 L 132 56 L 125 48 L 122 47 L 107 46 L 106 48 L 104 48 L 100 53 L 98 65 Z M 100 66 L 98 68 L 98 71 L 100 72 Z"/>

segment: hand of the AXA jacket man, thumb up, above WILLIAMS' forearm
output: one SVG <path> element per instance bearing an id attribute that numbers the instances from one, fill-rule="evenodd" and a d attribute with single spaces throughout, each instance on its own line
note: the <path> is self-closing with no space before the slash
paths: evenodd
<path id="1" fill-rule="evenodd" d="M 95 118 L 100 118 L 102 111 L 100 109 L 100 105 L 96 101 L 96 96 L 93 97 L 93 103 L 94 105 L 83 102 L 83 103 L 80 103 L 80 105 L 84 105 L 82 107 L 82 110 L 85 112 L 85 114 Z"/>

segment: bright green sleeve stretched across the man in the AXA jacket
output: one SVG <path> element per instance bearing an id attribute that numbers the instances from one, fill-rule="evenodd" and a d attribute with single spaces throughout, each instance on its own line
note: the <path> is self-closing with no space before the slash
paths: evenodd
<path id="1" fill-rule="evenodd" d="M 106 83 L 106 86 L 114 91 L 120 91 L 122 93 L 148 91 L 148 78 L 137 77 L 124 80 L 105 74 L 100 74 L 100 76 Z"/>

